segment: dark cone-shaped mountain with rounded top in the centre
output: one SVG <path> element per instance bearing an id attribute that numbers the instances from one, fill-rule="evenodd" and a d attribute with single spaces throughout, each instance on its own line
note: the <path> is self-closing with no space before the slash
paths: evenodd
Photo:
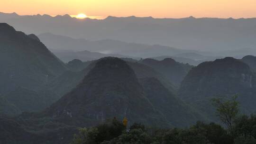
<path id="1" fill-rule="evenodd" d="M 70 121 L 65 117 L 89 119 L 86 125 L 112 117 L 166 124 L 144 96 L 133 70 L 125 61 L 112 57 L 98 61 L 82 82 L 47 112 L 65 121 Z"/>

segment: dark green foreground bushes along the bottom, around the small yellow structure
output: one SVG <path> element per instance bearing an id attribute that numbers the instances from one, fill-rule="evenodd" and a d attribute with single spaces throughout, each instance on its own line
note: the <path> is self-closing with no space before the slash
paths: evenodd
<path id="1" fill-rule="evenodd" d="M 114 123 L 120 124 L 115 119 L 111 125 L 114 126 Z M 82 133 L 80 131 L 80 136 L 74 137 L 73 142 L 76 143 L 72 144 L 234 144 L 233 137 L 227 130 L 215 123 L 197 122 L 190 128 L 157 129 L 154 133 L 151 128 L 141 123 L 134 123 L 128 131 L 122 131 L 122 133 L 110 133 L 113 130 L 118 132 L 117 125 L 114 127 L 111 125 L 106 123 L 95 126 L 91 130 L 86 129 Z M 85 140 L 82 141 L 82 138 Z"/>

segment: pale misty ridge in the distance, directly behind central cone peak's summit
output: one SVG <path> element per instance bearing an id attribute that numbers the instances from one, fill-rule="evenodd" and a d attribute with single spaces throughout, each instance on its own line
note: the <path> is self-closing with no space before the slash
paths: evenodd
<path id="1" fill-rule="evenodd" d="M 138 59 L 138 57 L 147 58 L 163 54 L 173 55 L 196 52 L 163 45 L 127 43 L 111 39 L 89 41 L 51 33 L 40 34 L 38 37 L 47 47 L 52 49 L 56 56 L 65 62 L 72 59 L 80 59 L 82 61 L 95 60 L 106 56 Z"/>

